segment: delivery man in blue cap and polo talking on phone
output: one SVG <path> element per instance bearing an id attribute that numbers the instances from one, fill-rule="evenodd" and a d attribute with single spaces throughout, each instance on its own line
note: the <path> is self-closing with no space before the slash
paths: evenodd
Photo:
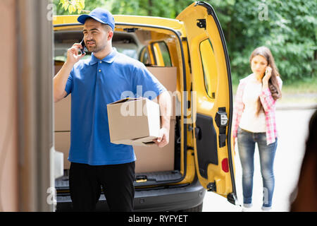
<path id="1" fill-rule="evenodd" d="M 132 211 L 136 157 L 131 145 L 110 142 L 106 105 L 120 100 L 125 91 L 136 93 L 137 85 L 142 85 L 142 95 L 152 91 L 161 110 L 160 137 L 154 142 L 163 147 L 169 139 L 170 95 L 144 64 L 112 47 L 115 21 L 110 12 L 96 8 L 77 20 L 84 24 L 92 57 L 82 59 L 82 45 L 73 44 L 54 77 L 54 102 L 72 94 L 68 160 L 73 208 L 95 210 L 102 186 L 110 210 Z"/>

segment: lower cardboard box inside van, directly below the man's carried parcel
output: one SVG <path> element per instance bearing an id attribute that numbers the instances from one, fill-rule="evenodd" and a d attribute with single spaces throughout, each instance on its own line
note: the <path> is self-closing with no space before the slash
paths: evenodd
<path id="1" fill-rule="evenodd" d="M 175 120 L 170 120 L 170 140 L 168 145 L 159 148 L 157 145 L 149 147 L 133 146 L 137 160 L 135 172 L 158 172 L 174 170 L 175 160 Z"/>

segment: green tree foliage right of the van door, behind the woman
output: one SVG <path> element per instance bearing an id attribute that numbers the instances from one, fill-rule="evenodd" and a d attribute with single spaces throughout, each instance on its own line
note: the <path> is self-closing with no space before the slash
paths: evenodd
<path id="1" fill-rule="evenodd" d="M 271 49 L 284 81 L 316 78 L 317 1 L 227 0 L 213 1 L 213 7 L 235 81 L 251 73 L 249 55 L 262 45 Z"/>

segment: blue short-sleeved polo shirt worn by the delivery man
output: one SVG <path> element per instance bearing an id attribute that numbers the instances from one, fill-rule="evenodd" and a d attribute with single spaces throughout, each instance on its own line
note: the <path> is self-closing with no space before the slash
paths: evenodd
<path id="1" fill-rule="evenodd" d="M 70 72 L 71 95 L 68 160 L 89 165 L 115 165 L 136 160 L 131 145 L 110 142 L 107 104 L 125 97 L 148 97 L 166 90 L 140 61 L 117 52 L 99 60 L 78 61 Z M 124 133 L 125 131 L 123 131 Z"/>

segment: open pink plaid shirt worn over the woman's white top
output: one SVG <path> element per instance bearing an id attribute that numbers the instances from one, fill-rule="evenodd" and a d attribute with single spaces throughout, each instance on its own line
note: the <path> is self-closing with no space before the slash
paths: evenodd
<path id="1" fill-rule="evenodd" d="M 251 74 L 252 75 L 252 74 Z M 237 93 L 235 95 L 235 107 L 233 109 L 233 125 L 232 125 L 232 136 L 233 138 L 237 137 L 237 129 L 240 124 L 240 119 L 242 117 L 242 113 L 244 110 L 244 103 L 242 102 L 242 96 L 244 87 L 249 81 L 251 75 L 247 76 L 247 78 L 243 78 L 240 80 L 239 86 L 237 88 Z M 278 76 L 278 85 L 280 86 L 280 90 L 282 90 L 282 80 Z M 260 94 L 260 100 L 266 114 L 266 144 L 275 142 L 275 138 L 278 136 L 278 131 L 276 129 L 276 121 L 275 121 L 275 102 L 271 95 L 271 91 L 269 88 L 262 90 Z"/>

